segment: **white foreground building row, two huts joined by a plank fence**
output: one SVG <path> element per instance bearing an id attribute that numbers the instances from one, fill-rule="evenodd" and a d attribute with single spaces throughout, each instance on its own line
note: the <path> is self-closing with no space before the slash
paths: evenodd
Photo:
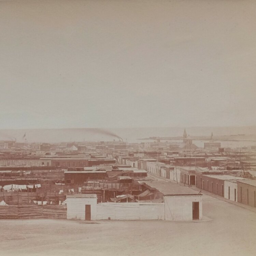
<path id="1" fill-rule="evenodd" d="M 195 193 L 188 187 L 170 182 L 140 181 L 139 183 L 144 190 L 142 194 L 149 191 L 150 194 L 157 195 L 157 193 L 151 193 L 157 190 L 162 195 L 160 200 L 97 203 L 96 194 L 67 195 L 65 201 L 67 218 L 88 221 L 96 219 L 162 219 L 168 221 L 202 219 L 201 194 Z M 123 197 L 125 198 L 125 195 Z"/>

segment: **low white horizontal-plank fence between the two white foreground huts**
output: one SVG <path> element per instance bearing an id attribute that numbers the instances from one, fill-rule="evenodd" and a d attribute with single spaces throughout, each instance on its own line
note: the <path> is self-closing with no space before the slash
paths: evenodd
<path id="1" fill-rule="evenodd" d="M 165 219 L 164 203 L 98 203 L 97 219 Z"/>

